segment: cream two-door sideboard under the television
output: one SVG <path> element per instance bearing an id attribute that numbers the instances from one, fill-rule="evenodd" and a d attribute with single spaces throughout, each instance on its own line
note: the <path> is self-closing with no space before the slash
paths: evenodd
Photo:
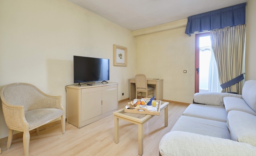
<path id="1" fill-rule="evenodd" d="M 118 83 L 67 86 L 67 122 L 81 128 L 112 115 L 118 107 Z"/>

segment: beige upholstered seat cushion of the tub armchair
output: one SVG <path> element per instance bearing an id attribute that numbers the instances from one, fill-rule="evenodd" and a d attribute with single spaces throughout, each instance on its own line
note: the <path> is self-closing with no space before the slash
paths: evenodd
<path id="1" fill-rule="evenodd" d="M 56 108 L 35 109 L 25 112 L 25 118 L 29 124 L 29 128 L 31 129 L 46 121 L 51 121 L 61 114 L 63 114 L 63 111 Z"/>

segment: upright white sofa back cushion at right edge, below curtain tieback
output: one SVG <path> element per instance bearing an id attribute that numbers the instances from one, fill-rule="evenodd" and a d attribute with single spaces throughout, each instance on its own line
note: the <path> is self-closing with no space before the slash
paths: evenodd
<path id="1" fill-rule="evenodd" d="M 242 96 L 244 101 L 256 112 L 256 80 L 249 80 L 244 83 Z"/>

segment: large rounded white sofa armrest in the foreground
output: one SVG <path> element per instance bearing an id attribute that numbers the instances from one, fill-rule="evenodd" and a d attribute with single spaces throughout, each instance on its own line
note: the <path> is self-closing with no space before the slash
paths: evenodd
<path id="1" fill-rule="evenodd" d="M 159 143 L 162 156 L 177 155 L 255 155 L 256 147 L 228 139 L 203 136 L 189 132 L 172 131 L 163 136 Z"/>

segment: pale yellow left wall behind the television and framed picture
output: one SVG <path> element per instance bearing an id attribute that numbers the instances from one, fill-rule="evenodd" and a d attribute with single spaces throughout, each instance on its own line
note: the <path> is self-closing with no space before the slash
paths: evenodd
<path id="1" fill-rule="evenodd" d="M 31 83 L 46 94 L 61 95 L 66 108 L 65 86 L 73 84 L 73 55 L 78 55 L 110 59 L 118 100 L 129 97 L 128 79 L 135 75 L 130 30 L 66 0 L 1 0 L 0 23 L 0 87 Z M 113 66 L 113 44 L 127 47 L 127 67 Z M 6 136 L 1 106 L 0 138 Z"/>

